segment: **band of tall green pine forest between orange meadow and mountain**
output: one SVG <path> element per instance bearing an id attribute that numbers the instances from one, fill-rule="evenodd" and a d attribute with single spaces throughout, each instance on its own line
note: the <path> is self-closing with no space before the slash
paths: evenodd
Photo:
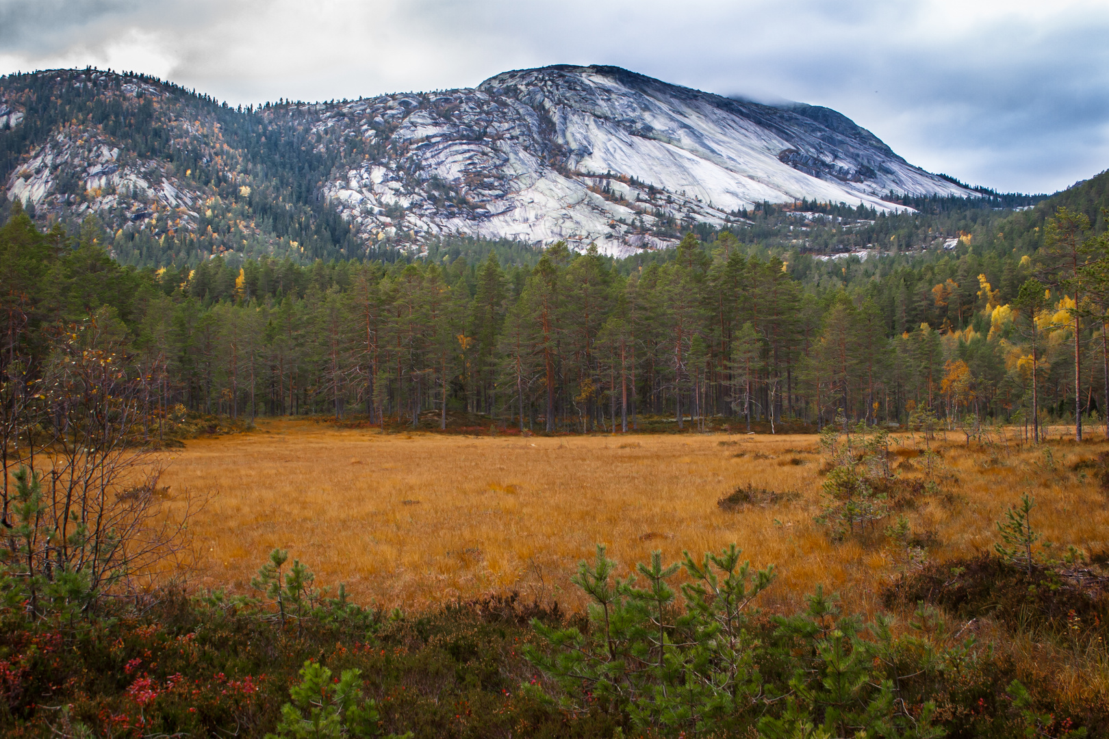
<path id="1" fill-rule="evenodd" d="M 645 263 L 556 244 L 533 266 L 490 252 L 478 264 L 444 254 L 237 270 L 218 258 L 121 267 L 106 238 L 93 219 L 75 239 L 41 233 L 18 204 L 0 229 L 9 406 L 59 331 L 94 321 L 98 336 L 122 337 L 162 417 L 418 424 L 434 413 L 445 428 L 462 412 L 590 432 L 634 430 L 644 415 L 775 430 L 926 413 L 1037 433 L 1041 418 L 1080 422 L 1106 408 L 1106 239 L 1066 208 L 1034 255 L 967 249 L 851 286 L 820 286 L 728 233 L 686 234 Z M 997 276 L 964 274 L 983 265 Z"/>

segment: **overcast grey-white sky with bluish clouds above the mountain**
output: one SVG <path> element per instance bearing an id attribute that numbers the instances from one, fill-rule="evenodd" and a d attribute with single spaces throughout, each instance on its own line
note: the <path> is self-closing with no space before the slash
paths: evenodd
<path id="1" fill-rule="evenodd" d="M 1106 0 L 0 0 L 0 73 L 145 71 L 233 104 L 554 63 L 826 105 L 1001 191 L 1109 168 Z"/>

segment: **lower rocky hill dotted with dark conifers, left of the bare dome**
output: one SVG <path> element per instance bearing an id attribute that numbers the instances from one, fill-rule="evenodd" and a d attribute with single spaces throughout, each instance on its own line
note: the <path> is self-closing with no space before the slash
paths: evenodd
<path id="1" fill-rule="evenodd" d="M 319 189 L 344 147 L 264 112 L 144 75 L 53 71 L 0 79 L 0 182 L 41 218 L 93 213 L 133 264 L 221 253 L 353 254 Z M 72 230 L 72 229 L 71 229 Z"/>

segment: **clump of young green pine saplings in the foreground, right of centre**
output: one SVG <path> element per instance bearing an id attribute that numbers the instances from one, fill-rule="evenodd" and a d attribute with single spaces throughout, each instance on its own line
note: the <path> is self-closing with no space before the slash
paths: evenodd
<path id="1" fill-rule="evenodd" d="M 528 658 L 558 680 L 563 705 L 581 714 L 600 701 L 667 736 L 741 726 L 762 691 L 746 607 L 773 567 L 752 572 L 734 546 L 701 562 L 686 554 L 682 614 L 667 583 L 679 564 L 664 567 L 653 554 L 637 567 L 645 588 L 613 578 L 614 566 L 598 546 L 594 563 L 582 562 L 572 578 L 592 602 L 589 633 L 535 624 L 552 651 L 529 648 Z"/>

